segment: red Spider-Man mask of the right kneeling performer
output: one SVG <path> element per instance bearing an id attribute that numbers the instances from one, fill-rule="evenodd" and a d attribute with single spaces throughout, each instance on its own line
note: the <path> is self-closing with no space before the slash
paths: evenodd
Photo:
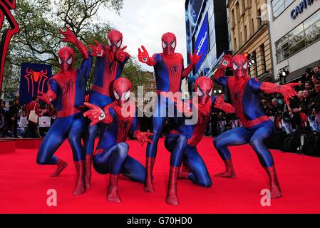
<path id="1" fill-rule="evenodd" d="M 213 88 L 213 83 L 210 78 L 204 76 L 197 78 L 195 81 L 195 91 L 200 105 L 205 105 L 211 99 Z"/>

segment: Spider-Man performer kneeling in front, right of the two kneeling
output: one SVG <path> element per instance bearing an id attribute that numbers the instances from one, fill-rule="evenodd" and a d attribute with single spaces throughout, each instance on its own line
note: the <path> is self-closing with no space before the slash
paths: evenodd
<path id="1" fill-rule="evenodd" d="M 196 185 L 211 187 L 212 180 L 205 162 L 202 160 L 197 145 L 202 140 L 205 128 L 210 120 L 211 108 L 220 108 L 226 113 L 234 113 L 234 108 L 224 103 L 223 95 L 215 98 L 213 82 L 210 78 L 201 76 L 195 81 L 197 103 L 190 103 L 190 109 L 197 110 L 197 123 L 188 124 L 185 119 L 179 119 L 175 128 L 165 138 L 165 147 L 171 152 L 170 175 L 167 189 L 167 204 L 177 205 L 177 179 L 191 180 Z M 180 166 L 183 168 L 180 171 Z"/>

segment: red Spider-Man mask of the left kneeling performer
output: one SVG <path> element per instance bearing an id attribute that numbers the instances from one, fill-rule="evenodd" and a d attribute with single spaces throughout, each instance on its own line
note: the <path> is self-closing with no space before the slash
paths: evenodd
<path id="1" fill-rule="evenodd" d="M 118 78 L 113 83 L 113 94 L 121 107 L 130 100 L 131 87 L 131 83 L 127 78 Z"/>

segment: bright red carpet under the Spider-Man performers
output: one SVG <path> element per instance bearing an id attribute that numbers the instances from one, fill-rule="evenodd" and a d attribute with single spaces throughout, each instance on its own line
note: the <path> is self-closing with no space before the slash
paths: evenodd
<path id="1" fill-rule="evenodd" d="M 145 147 L 133 141 L 129 144 L 130 155 L 144 164 Z M 224 169 L 212 138 L 202 140 L 198 149 L 210 175 Z M 36 152 L 16 149 L 13 153 L 0 153 L 0 213 L 320 213 L 320 159 L 316 157 L 272 151 L 283 197 L 273 199 L 271 207 L 262 207 L 260 191 L 268 187 L 267 175 L 249 145 L 232 147 L 237 179 L 213 178 L 214 185 L 207 189 L 180 180 L 180 206 L 172 207 L 165 204 L 169 153 L 163 140 L 155 163 L 155 194 L 145 193 L 142 184 L 123 178 L 121 204 L 105 199 L 108 175 L 95 171 L 86 194 L 72 195 L 75 170 L 68 142 L 57 152 L 69 163 L 60 177 L 49 177 L 53 166 L 36 165 Z M 46 205 L 48 189 L 57 191 L 57 207 Z"/>

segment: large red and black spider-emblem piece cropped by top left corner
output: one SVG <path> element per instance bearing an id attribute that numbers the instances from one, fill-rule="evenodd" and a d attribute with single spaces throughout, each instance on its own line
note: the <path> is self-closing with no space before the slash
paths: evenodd
<path id="1" fill-rule="evenodd" d="M 16 9 L 16 0 L 0 0 L 0 30 L 4 24 L 4 19 L 10 25 L 10 28 L 4 29 L 1 32 L 0 40 L 0 93 L 2 88 L 2 78 L 4 76 L 4 63 L 6 62 L 6 53 L 9 48 L 9 43 L 14 34 L 19 33 L 19 26 L 14 16 L 12 16 L 12 9 Z"/>

